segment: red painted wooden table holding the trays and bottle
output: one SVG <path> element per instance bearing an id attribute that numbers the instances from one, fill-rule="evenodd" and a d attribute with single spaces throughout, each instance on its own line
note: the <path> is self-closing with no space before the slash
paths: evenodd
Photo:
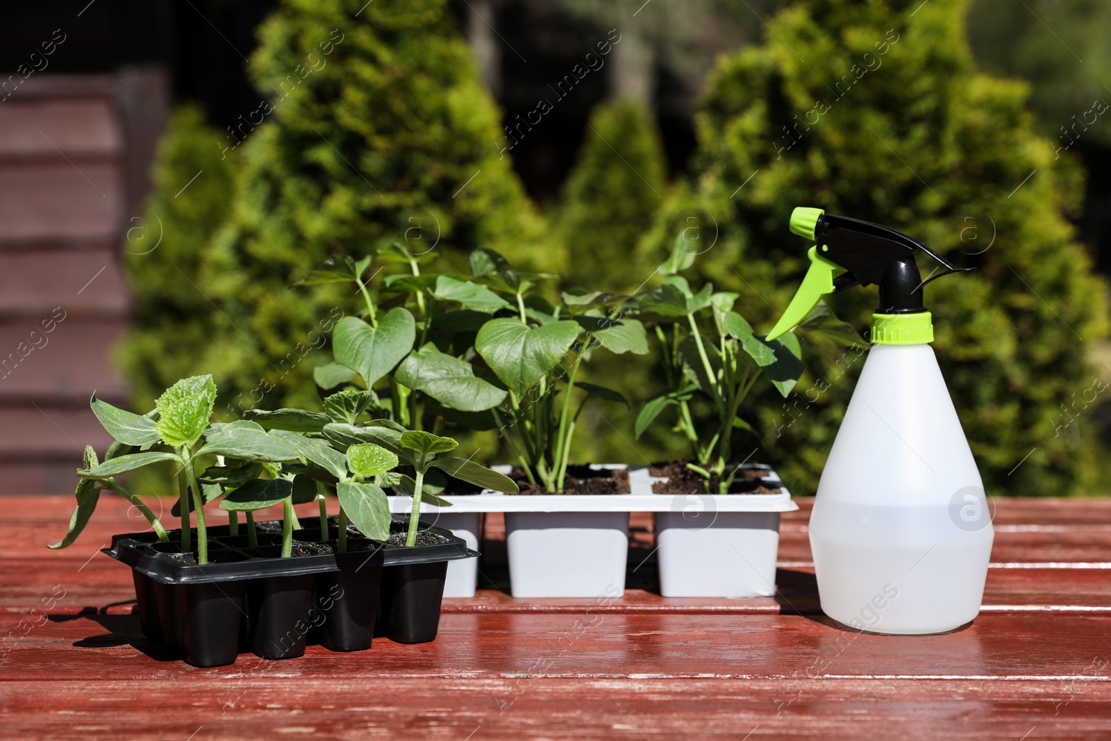
<path id="1" fill-rule="evenodd" d="M 651 518 L 634 514 L 624 598 L 514 600 L 499 591 L 492 515 L 481 568 L 493 588 L 446 602 L 434 643 L 241 654 L 220 669 L 142 638 L 130 570 L 98 551 L 132 529 L 126 502 L 103 498 L 77 544 L 48 551 L 71 498 L 0 501 L 11 739 L 1111 738 L 1109 500 L 999 501 L 983 611 L 944 635 L 825 619 L 801 500 L 783 520 L 774 598 L 660 598 Z"/>

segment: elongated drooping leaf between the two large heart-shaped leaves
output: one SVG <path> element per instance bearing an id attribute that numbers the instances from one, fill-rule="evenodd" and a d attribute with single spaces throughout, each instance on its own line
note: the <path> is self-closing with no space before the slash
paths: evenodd
<path id="1" fill-rule="evenodd" d="M 409 353 L 398 366 L 394 378 L 446 407 L 464 412 L 480 412 L 506 399 L 506 390 L 476 378 L 469 362 L 440 352 L 431 343 Z"/>

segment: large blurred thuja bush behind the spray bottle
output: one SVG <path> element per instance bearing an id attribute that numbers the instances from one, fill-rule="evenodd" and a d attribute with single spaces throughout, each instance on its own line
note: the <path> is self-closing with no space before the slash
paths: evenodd
<path id="1" fill-rule="evenodd" d="M 1094 434 L 1073 420 L 1105 388 L 1087 356 L 1108 328 L 1105 286 L 1065 218 L 1082 176 L 1033 132 L 1024 84 L 975 71 L 963 14 L 961 0 L 779 13 L 763 46 L 714 70 L 695 177 L 651 241 L 662 253 L 693 219 L 710 248 L 699 269 L 740 294 L 758 331 L 808 264 L 787 229 L 795 206 L 889 224 L 977 266 L 925 299 L 988 491 L 1079 494 L 1103 468 Z M 875 302 L 874 289 L 831 298 L 860 329 Z M 798 491 L 817 485 L 863 359 L 829 347 L 808 357 L 792 399 L 763 393 L 757 427 Z"/>

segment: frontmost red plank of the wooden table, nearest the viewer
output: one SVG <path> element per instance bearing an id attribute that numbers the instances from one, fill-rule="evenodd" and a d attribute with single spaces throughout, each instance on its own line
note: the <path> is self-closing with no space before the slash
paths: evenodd
<path id="1" fill-rule="evenodd" d="M 142 705 L 130 702 L 138 698 Z M 808 679 L 788 693 L 779 680 L 394 678 L 304 683 L 291 695 L 288 679 L 256 675 L 204 691 L 190 680 L 112 678 L 96 691 L 73 680 L 0 682 L 0 724 L 22 739 L 1033 741 L 1111 733 L 1107 682 Z"/>

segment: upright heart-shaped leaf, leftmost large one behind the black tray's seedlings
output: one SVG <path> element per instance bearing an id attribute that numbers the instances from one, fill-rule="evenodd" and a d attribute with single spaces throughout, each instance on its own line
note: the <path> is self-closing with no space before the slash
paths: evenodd
<path id="1" fill-rule="evenodd" d="M 336 361 L 353 368 L 367 388 L 393 370 L 413 349 L 417 322 L 402 307 L 390 309 L 371 327 L 361 319 L 344 317 L 332 332 Z"/>

